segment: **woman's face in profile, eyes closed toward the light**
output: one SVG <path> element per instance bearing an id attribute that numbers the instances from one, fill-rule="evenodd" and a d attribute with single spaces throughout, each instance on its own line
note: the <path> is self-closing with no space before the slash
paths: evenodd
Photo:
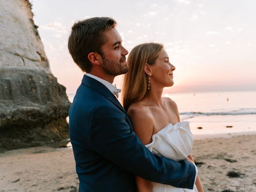
<path id="1" fill-rule="evenodd" d="M 164 49 L 160 52 L 155 64 L 150 66 L 150 70 L 152 72 L 150 82 L 160 84 L 163 87 L 170 87 L 174 84 L 173 71 L 175 67 L 170 63 L 169 56 Z"/>

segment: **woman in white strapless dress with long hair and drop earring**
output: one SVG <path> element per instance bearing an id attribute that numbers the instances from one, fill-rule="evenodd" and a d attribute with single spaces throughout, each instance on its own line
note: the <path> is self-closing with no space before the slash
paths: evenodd
<path id="1" fill-rule="evenodd" d="M 175 67 L 169 62 L 164 46 L 144 43 L 132 49 L 128 56 L 128 73 L 124 75 L 123 105 L 134 132 L 154 154 L 194 161 L 193 136 L 188 122 L 180 122 L 176 103 L 162 97 L 164 87 L 174 84 Z M 144 180 L 136 176 L 139 192 L 203 192 L 199 176 L 194 190 L 175 188 Z"/>

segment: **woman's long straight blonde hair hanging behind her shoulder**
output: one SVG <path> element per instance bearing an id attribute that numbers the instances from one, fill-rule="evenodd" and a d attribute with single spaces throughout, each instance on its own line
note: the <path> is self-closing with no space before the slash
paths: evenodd
<path id="1" fill-rule="evenodd" d="M 124 110 L 144 98 L 148 92 L 148 76 L 144 72 L 147 64 L 153 65 L 164 46 L 160 43 L 143 43 L 134 47 L 127 59 L 128 73 L 124 74 L 122 103 Z"/>

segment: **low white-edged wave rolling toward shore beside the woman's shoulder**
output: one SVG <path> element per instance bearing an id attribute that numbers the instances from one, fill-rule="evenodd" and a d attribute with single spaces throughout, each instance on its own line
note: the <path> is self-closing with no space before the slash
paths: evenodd
<path id="1" fill-rule="evenodd" d="M 256 109 L 239 109 L 226 112 L 180 112 L 180 115 L 188 116 L 212 116 L 212 115 L 252 115 L 256 114 Z"/>

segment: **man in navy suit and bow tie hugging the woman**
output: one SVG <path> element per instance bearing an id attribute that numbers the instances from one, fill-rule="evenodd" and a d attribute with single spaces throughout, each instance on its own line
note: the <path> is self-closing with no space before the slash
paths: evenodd
<path id="1" fill-rule="evenodd" d="M 115 26 L 112 18 L 82 20 L 74 24 L 68 39 L 74 62 L 86 72 L 69 111 L 79 191 L 135 192 L 134 174 L 192 189 L 195 165 L 152 154 L 133 132 L 116 98 L 120 90 L 112 83 L 128 71 L 128 51 Z"/>

